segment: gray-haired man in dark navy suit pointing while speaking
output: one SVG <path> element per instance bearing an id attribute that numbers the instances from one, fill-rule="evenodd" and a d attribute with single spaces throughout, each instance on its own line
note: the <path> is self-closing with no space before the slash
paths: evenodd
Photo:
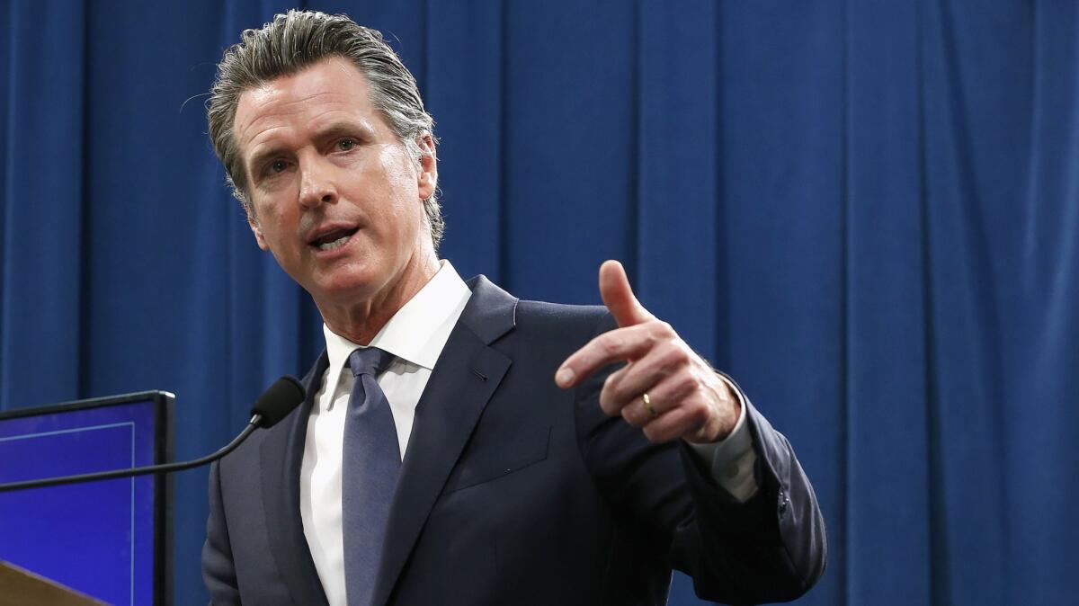
<path id="1" fill-rule="evenodd" d="M 789 443 L 618 263 L 605 307 L 578 307 L 438 260 L 433 122 L 378 32 L 309 12 L 245 31 L 209 123 L 327 342 L 306 401 L 211 469 L 215 603 L 663 604 L 679 568 L 741 604 L 823 571 Z"/>

